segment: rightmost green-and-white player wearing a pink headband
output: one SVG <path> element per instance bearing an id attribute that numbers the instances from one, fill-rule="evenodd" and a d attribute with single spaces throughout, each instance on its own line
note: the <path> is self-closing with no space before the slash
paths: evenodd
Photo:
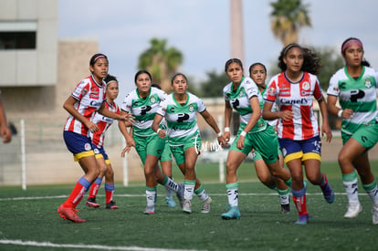
<path id="1" fill-rule="evenodd" d="M 378 75 L 363 58 L 360 39 L 346 39 L 341 45 L 341 54 L 345 67 L 331 77 L 327 94 L 330 113 L 342 119 L 343 146 L 338 161 L 348 196 L 344 218 L 357 217 L 362 211 L 358 198 L 358 173 L 363 189 L 373 201 L 373 225 L 378 225 L 377 183 L 368 157 L 369 150 L 378 141 Z M 336 105 L 338 99 L 340 108 Z"/>

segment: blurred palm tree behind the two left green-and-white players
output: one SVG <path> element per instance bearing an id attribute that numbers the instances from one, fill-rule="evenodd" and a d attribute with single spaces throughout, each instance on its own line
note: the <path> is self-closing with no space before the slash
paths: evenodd
<path id="1" fill-rule="evenodd" d="M 166 39 L 151 39 L 151 47 L 142 52 L 138 68 L 151 72 L 153 81 L 165 92 L 171 91 L 170 77 L 183 62 L 183 54 L 175 47 L 166 48 Z"/>

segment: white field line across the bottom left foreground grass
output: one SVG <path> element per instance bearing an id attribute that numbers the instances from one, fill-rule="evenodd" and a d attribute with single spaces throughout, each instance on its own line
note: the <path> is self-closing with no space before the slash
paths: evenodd
<path id="1" fill-rule="evenodd" d="M 85 248 L 85 249 L 100 249 L 100 250 L 130 250 L 130 251 L 194 251 L 194 249 L 168 249 L 157 247 L 142 247 L 142 246 L 103 246 L 103 245 L 79 245 L 79 244 L 55 244 L 51 242 L 35 242 L 22 240 L 6 240 L 0 239 L 0 245 L 15 245 L 15 246 L 38 246 L 38 247 L 58 247 L 58 248 Z"/>

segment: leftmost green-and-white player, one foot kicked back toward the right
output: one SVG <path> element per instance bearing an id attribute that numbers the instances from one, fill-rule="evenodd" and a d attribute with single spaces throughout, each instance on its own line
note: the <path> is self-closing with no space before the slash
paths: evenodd
<path id="1" fill-rule="evenodd" d="M 121 133 L 126 140 L 123 152 L 129 152 L 135 147 L 144 165 L 146 179 L 147 205 L 144 214 L 155 213 L 156 181 L 176 192 L 180 203 L 183 203 L 184 184 L 177 184 L 167 175 L 163 174 L 158 162 L 164 154 L 165 139 L 158 137 L 152 131 L 152 121 L 160 102 L 166 94 L 161 89 L 152 87 L 152 76 L 147 70 L 139 70 L 135 74 L 136 89 L 128 93 L 121 105 L 121 114 L 132 114 L 132 136 L 124 123 L 119 123 Z M 158 125 L 162 126 L 162 124 Z"/>

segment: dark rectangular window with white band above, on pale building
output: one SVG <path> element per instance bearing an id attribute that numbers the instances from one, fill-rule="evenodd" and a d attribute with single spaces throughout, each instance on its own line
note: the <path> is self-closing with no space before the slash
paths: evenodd
<path id="1" fill-rule="evenodd" d="M 0 50 L 36 47 L 37 22 L 0 22 Z"/>

